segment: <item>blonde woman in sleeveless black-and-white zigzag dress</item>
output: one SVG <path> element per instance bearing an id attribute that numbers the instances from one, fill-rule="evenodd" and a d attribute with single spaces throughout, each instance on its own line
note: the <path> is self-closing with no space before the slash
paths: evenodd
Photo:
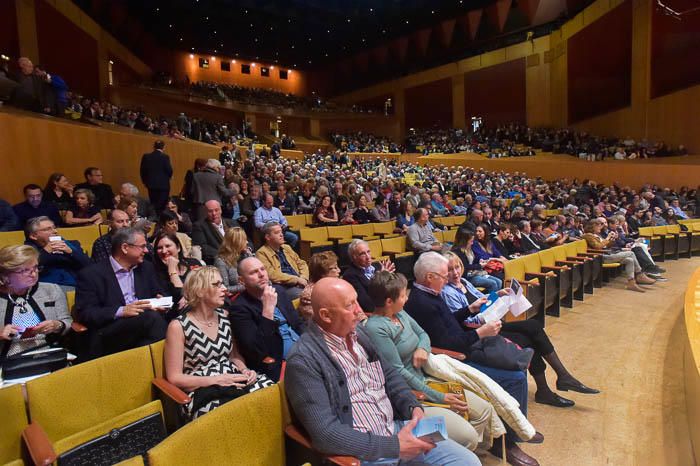
<path id="1" fill-rule="evenodd" d="M 273 383 L 246 367 L 221 308 L 225 295 L 216 267 L 191 271 L 184 287 L 188 307 L 168 326 L 165 370 L 168 380 L 190 396 L 184 406 L 190 420 Z"/>

